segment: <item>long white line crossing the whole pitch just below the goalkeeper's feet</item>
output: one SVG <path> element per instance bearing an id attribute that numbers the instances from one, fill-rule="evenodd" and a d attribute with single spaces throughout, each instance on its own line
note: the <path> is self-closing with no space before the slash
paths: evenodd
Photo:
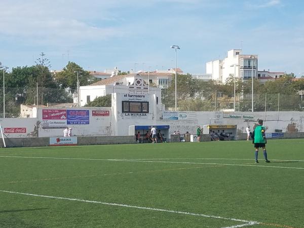
<path id="1" fill-rule="evenodd" d="M 90 161 L 116 161 L 116 162 L 149 162 L 149 163 L 176 163 L 176 164 L 204 164 L 204 165 L 226 165 L 226 166 L 252 166 L 266 168 L 282 168 L 282 169 L 304 169 L 301 167 L 285 167 L 285 166 L 262 166 L 262 165 L 246 165 L 246 164 L 224 164 L 224 163 L 199 163 L 199 162 L 163 162 L 163 161 L 144 161 L 144 160 L 121 160 L 121 159 L 85 159 L 85 158 L 52 158 L 52 157 L 21 157 L 21 156 L 0 156 L 5 158 L 32 158 L 32 159 L 62 159 L 62 160 L 90 160 Z"/>

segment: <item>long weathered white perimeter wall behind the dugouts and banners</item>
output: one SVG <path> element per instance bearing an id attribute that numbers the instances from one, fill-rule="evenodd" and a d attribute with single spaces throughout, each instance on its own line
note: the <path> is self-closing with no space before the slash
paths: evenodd
<path id="1" fill-rule="evenodd" d="M 185 119 L 170 120 L 163 119 L 162 111 L 155 109 L 153 113 L 143 116 L 127 116 L 122 118 L 122 115 L 116 116 L 113 112 L 117 110 L 109 108 L 78 108 L 89 110 L 89 123 L 88 124 L 75 124 L 63 126 L 49 126 L 44 128 L 44 121 L 42 118 L 42 110 L 39 112 L 39 119 L 36 118 L 6 118 L 0 119 L 3 130 L 6 128 L 15 129 L 14 133 L 5 133 L 9 138 L 19 137 L 59 137 L 63 136 L 63 128 L 68 126 L 72 128 L 73 135 L 75 136 L 115 136 L 115 135 L 128 135 L 129 126 L 131 125 L 169 125 L 169 137 L 174 131 L 180 131 L 181 134 L 187 131 L 191 134 L 196 134 L 198 125 L 201 127 L 208 124 L 217 125 L 237 125 L 236 137 L 241 138 L 241 134 L 245 133 L 246 126 L 249 125 L 253 129 L 258 119 L 264 120 L 264 126 L 267 132 L 303 132 L 304 131 L 304 112 L 300 111 L 282 111 L 282 112 L 225 112 L 223 115 L 218 115 L 218 112 L 182 112 L 183 115 L 190 116 Z M 108 116 L 93 116 L 93 110 L 107 111 Z M 152 110 L 151 110 L 152 111 Z M 120 112 L 120 111 L 118 111 Z M 232 118 L 227 118 L 231 115 Z M 251 116 L 252 119 L 239 118 L 240 116 Z M 50 120 L 48 120 L 51 124 Z M 36 125 L 38 128 L 36 128 Z M 25 132 L 20 131 L 20 129 Z M 204 132 L 206 134 L 207 132 Z M 292 134 L 290 137 L 293 137 Z M 301 137 L 298 134 L 294 137 Z"/>

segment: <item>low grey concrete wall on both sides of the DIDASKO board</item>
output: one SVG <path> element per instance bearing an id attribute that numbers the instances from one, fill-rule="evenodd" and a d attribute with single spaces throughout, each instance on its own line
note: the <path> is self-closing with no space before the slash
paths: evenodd
<path id="1" fill-rule="evenodd" d="M 103 144 L 132 144 L 135 143 L 135 136 L 87 136 L 77 137 L 78 145 L 103 145 Z M 49 146 L 49 137 L 32 138 L 9 138 L 5 139 L 7 147 L 36 147 Z M 4 147 L 0 141 L 0 147 Z"/>

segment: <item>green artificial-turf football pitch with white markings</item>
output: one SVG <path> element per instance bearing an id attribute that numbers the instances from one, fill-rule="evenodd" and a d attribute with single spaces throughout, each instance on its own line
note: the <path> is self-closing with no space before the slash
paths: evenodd
<path id="1" fill-rule="evenodd" d="M 304 139 L 0 149 L 0 227 L 304 227 Z"/>

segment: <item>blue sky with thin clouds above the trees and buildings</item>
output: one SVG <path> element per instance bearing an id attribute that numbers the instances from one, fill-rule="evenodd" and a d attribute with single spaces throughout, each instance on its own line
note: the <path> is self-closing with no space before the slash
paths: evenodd
<path id="1" fill-rule="evenodd" d="M 207 61 L 242 48 L 259 69 L 304 74 L 301 0 L 1 0 L 0 61 L 51 69 L 74 61 L 86 70 L 118 66 L 204 73 Z M 144 63 L 144 64 L 143 64 Z"/>

